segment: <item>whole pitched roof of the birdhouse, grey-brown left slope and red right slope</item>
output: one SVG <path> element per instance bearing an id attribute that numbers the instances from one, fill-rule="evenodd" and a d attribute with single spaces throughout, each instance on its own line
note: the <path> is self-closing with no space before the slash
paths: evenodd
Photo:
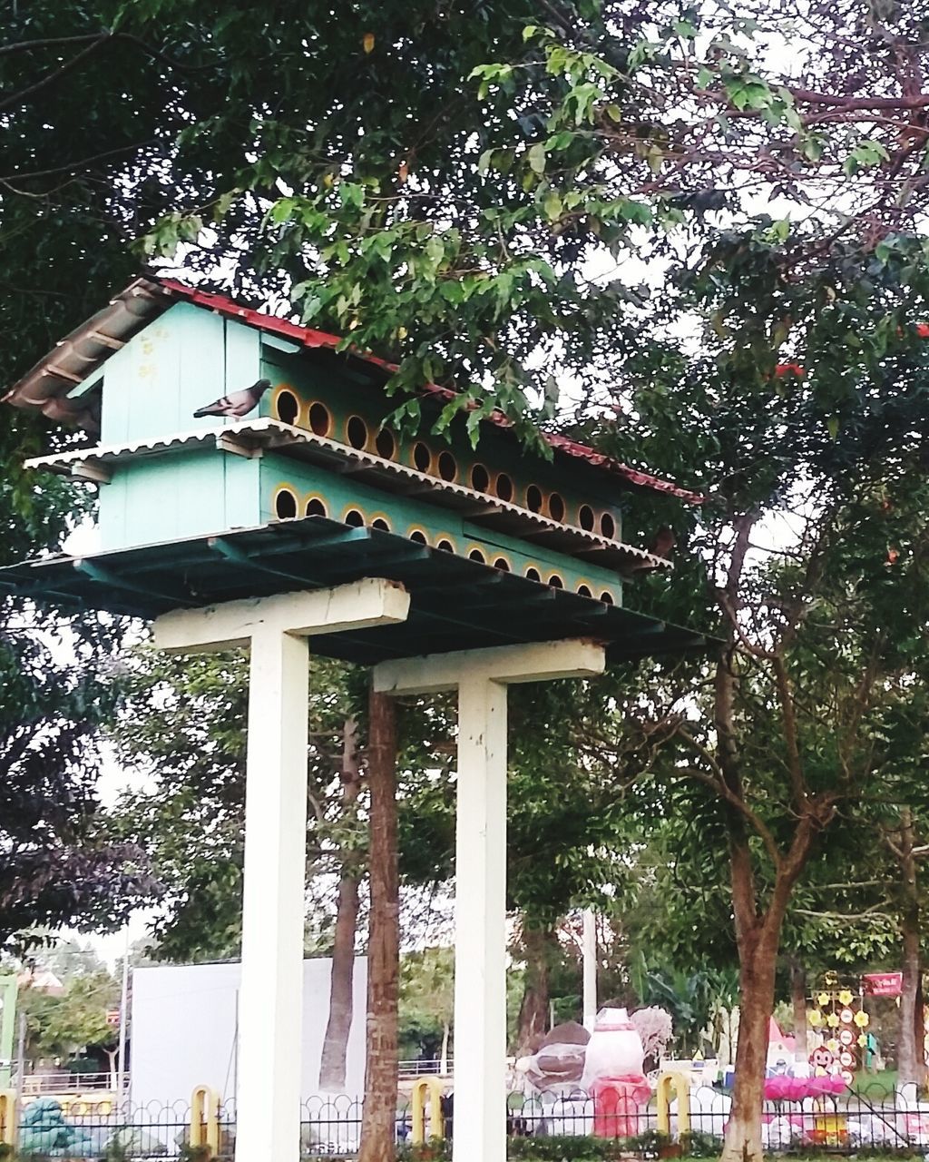
<path id="1" fill-rule="evenodd" d="M 329 335 L 325 331 L 302 327 L 286 318 L 253 310 L 225 295 L 200 290 L 174 279 L 141 278 L 115 295 L 107 307 L 58 343 L 53 351 L 50 351 L 7 392 L 3 401 L 14 407 L 38 408 L 49 418 L 57 422 L 67 422 L 69 419 L 77 422 L 80 404 L 67 401 L 65 399 L 67 392 L 101 366 L 114 351 L 118 350 L 152 318 L 167 310 L 177 299 L 183 299 L 194 306 L 216 311 L 226 318 L 238 320 L 261 331 L 285 336 L 305 347 L 334 350 L 343 342 L 337 335 Z M 386 372 L 396 371 L 396 365 L 370 353 L 352 351 L 352 354 Z M 455 395 L 451 388 L 440 387 L 437 383 L 426 385 L 423 392 L 445 400 L 453 399 Z M 499 428 L 512 426 L 499 411 L 488 416 L 488 421 Z M 543 432 L 542 437 L 556 453 L 584 460 L 595 468 L 621 478 L 634 488 L 665 493 L 689 504 L 699 504 L 704 500 L 698 493 L 680 488 L 671 481 L 661 480 L 650 473 L 632 468 L 584 444 L 568 439 L 566 436 Z"/>

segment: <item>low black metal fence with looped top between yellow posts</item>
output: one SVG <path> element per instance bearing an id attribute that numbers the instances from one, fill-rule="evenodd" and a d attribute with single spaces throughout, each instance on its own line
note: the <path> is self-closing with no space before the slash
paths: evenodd
<path id="1" fill-rule="evenodd" d="M 511 1095 L 506 1128 L 513 1138 L 599 1136 L 622 1143 L 624 1152 L 654 1157 L 665 1140 L 658 1134 L 655 1102 L 633 1105 L 602 1093 L 596 1100 L 581 1091 L 563 1095 Z M 677 1103 L 670 1110 L 670 1133 L 683 1153 L 718 1152 L 729 1117 L 730 1096 L 699 1086 L 690 1095 L 690 1125 L 682 1125 Z M 442 1098 L 445 1135 L 454 1135 L 454 1095 Z M 398 1103 L 397 1143 L 412 1138 L 409 1107 Z M 682 1132 L 683 1131 L 683 1132 Z M 348 1096 L 314 1097 L 303 1103 L 301 1156 L 345 1159 L 358 1152 L 361 1102 Z M 929 1150 L 929 1102 L 901 1103 L 874 1088 L 840 1097 L 802 1102 L 765 1102 L 762 1140 L 765 1150 L 890 1153 Z M 29 1102 L 20 1114 L 19 1154 L 23 1159 L 113 1159 L 154 1162 L 182 1156 L 190 1141 L 190 1109 L 182 1103 L 125 1106 L 102 1114 L 62 1110 L 51 1098 Z M 232 1162 L 236 1141 L 233 1103 L 219 1109 L 219 1162 Z"/>

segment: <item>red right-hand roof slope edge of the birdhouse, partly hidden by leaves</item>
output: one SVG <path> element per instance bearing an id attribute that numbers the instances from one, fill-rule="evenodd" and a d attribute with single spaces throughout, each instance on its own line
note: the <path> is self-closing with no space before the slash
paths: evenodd
<path id="1" fill-rule="evenodd" d="M 209 290 L 199 290 L 196 287 L 186 286 L 183 282 L 178 282 L 174 279 L 159 279 L 158 282 L 165 290 L 168 292 L 168 294 L 180 295 L 197 307 L 206 307 L 208 310 L 215 310 L 217 314 L 224 315 L 226 318 L 237 318 L 243 323 L 247 323 L 250 327 L 257 327 L 259 330 L 268 331 L 273 335 L 282 335 L 286 338 L 294 339 L 307 347 L 336 349 L 341 343 L 341 339 L 337 335 L 329 335 L 325 331 L 316 331 L 310 327 L 301 327 L 297 323 L 291 323 L 289 320 L 278 318 L 274 315 L 266 315 L 264 311 L 253 310 L 251 307 L 243 307 L 232 299 L 228 299 L 225 295 L 214 294 Z M 384 359 L 379 359 L 376 356 L 362 353 L 355 350 L 352 351 L 352 354 L 359 359 L 363 359 L 366 363 L 382 367 L 384 371 L 395 372 L 397 370 L 396 364 L 387 363 Z M 438 383 L 427 383 L 423 390 L 429 395 L 439 395 L 446 400 L 449 400 L 455 395 L 451 388 L 440 387 Z M 500 428 L 512 426 L 511 422 L 500 411 L 492 413 L 488 418 L 491 423 L 495 423 Z M 606 472 L 615 473 L 634 487 L 649 488 L 653 492 L 665 493 L 669 496 L 676 496 L 678 500 L 686 501 L 689 504 L 701 504 L 704 502 L 704 497 L 699 493 L 680 488 L 678 485 L 675 485 L 669 480 L 661 480 L 657 476 L 653 476 L 648 472 L 640 472 L 638 468 L 631 468 L 628 465 L 621 464 L 619 460 L 614 460 L 612 457 L 605 456 L 603 452 L 597 452 L 592 447 L 588 447 L 585 444 L 578 444 L 575 440 L 568 439 L 567 436 L 560 436 L 555 432 L 542 432 L 542 438 L 556 452 L 575 457 L 578 460 L 586 460 L 586 462 L 592 465 L 595 468 L 603 468 Z"/>

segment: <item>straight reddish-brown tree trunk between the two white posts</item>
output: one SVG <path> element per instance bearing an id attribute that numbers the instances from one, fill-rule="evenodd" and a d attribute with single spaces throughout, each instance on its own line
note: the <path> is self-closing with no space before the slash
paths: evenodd
<path id="1" fill-rule="evenodd" d="M 393 698 L 368 701 L 370 787 L 370 932 L 368 1061 L 359 1162 L 393 1162 L 397 1109 L 399 888 L 397 877 L 397 731 Z"/>

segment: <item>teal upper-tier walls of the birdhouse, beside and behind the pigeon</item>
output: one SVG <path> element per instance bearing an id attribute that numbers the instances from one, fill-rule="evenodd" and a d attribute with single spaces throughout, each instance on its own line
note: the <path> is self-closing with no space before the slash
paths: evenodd
<path id="1" fill-rule="evenodd" d="M 424 407 L 433 410 L 424 417 L 425 433 L 401 439 L 382 428 L 396 401 L 386 396 L 376 376 L 360 365 L 325 350 L 288 353 L 262 343 L 255 329 L 189 303 L 177 303 L 108 360 L 101 442 L 150 440 L 222 428 L 232 421 L 214 416 L 195 419 L 193 413 L 262 375 L 274 387 L 255 416 L 295 423 L 337 443 L 365 447 L 566 524 L 621 539 L 622 489 L 619 483 L 611 486 L 608 478 L 589 465 L 549 462 L 487 425 L 474 450 L 463 418 L 453 424 L 446 443 L 429 433 L 435 408 L 427 402 Z M 135 508 L 137 502 L 132 503 Z M 235 521 L 236 526 L 253 523 L 252 497 L 237 495 L 230 504 L 229 522 Z M 274 516 L 268 504 L 265 496 L 259 519 Z M 113 502 L 108 508 L 115 514 Z M 137 516 L 130 514 L 129 518 Z M 113 519 L 117 519 L 115 515 Z M 123 526 L 115 536 L 124 539 L 134 535 Z"/>

